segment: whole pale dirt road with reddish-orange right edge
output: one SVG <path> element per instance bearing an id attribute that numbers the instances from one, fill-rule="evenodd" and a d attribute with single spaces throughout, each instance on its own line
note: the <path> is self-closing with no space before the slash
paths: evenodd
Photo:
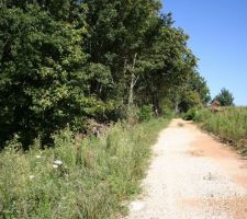
<path id="1" fill-rule="evenodd" d="M 247 161 L 175 119 L 160 132 L 127 219 L 247 219 Z"/>

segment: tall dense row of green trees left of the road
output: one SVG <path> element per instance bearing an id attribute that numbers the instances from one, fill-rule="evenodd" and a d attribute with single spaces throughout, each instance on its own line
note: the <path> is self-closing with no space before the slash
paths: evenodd
<path id="1" fill-rule="evenodd" d="M 207 103 L 189 36 L 160 10 L 159 0 L 1 0 L 1 147 L 14 136 L 46 145 L 134 107 Z"/>

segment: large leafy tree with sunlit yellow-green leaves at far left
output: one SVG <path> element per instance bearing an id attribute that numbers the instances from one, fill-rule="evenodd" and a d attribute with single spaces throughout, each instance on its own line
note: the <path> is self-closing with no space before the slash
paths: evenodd
<path id="1" fill-rule="evenodd" d="M 106 111 L 90 94 L 81 47 L 86 28 L 57 21 L 38 4 L 0 9 L 0 141 L 18 134 L 25 147 L 37 136 L 43 143 L 68 124 Z"/>

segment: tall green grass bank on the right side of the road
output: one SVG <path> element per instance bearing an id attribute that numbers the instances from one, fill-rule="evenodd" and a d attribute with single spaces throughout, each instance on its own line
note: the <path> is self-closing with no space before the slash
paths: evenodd
<path id="1" fill-rule="evenodd" d="M 198 111 L 193 119 L 205 130 L 231 142 L 240 153 L 247 154 L 247 108 L 223 107 L 217 113 Z"/>

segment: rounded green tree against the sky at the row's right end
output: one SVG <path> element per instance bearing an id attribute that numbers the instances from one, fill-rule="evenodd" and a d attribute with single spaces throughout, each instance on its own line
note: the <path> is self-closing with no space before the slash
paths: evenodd
<path id="1" fill-rule="evenodd" d="M 187 105 L 186 108 L 189 108 L 195 103 L 204 103 L 201 99 L 205 99 L 204 95 L 209 93 L 206 83 L 195 71 L 197 58 L 187 47 L 189 36 L 171 24 L 170 14 L 162 18 L 162 25 L 151 47 L 142 56 L 146 69 L 139 80 L 138 100 L 148 101 L 159 112 L 164 105 L 162 100 L 172 102 L 175 108 L 178 105 Z M 193 100 L 186 104 L 189 96 Z"/>

